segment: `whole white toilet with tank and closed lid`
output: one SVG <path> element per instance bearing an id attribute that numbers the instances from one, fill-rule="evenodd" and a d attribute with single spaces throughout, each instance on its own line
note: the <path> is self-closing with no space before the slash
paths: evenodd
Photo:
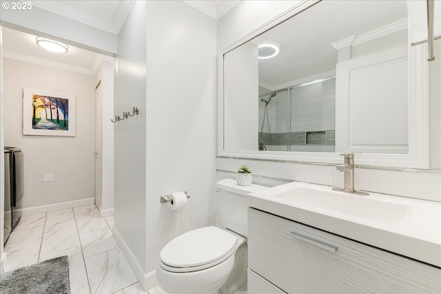
<path id="1" fill-rule="evenodd" d="M 234 294 L 247 282 L 245 195 L 267 187 L 216 183 L 216 225 L 183 233 L 160 253 L 159 286 L 172 294 Z M 222 228 L 222 229 L 220 229 Z"/>

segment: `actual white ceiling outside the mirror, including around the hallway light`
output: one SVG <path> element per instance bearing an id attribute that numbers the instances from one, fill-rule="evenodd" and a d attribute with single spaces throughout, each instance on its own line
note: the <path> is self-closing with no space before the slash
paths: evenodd
<path id="1" fill-rule="evenodd" d="M 239 1 L 184 2 L 218 19 Z M 133 3 L 134 0 L 32 1 L 33 6 L 112 34 L 118 34 Z M 95 74 L 99 61 L 108 58 L 72 45 L 68 54 L 48 52 L 36 45 L 35 38 L 36 35 L 3 27 L 3 56 L 84 74 Z"/>

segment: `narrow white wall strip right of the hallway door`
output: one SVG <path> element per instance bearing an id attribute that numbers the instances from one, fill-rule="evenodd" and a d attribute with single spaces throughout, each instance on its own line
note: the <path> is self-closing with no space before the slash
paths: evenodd
<path id="1" fill-rule="evenodd" d="M 103 212 L 112 215 L 114 209 L 114 80 L 113 61 L 103 60 L 95 76 L 95 85 L 101 81 L 102 87 L 102 180 L 101 180 L 101 216 Z"/>

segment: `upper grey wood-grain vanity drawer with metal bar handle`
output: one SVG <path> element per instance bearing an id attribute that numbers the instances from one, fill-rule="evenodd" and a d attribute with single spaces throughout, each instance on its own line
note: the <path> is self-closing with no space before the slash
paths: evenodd
<path id="1" fill-rule="evenodd" d="M 438 267 L 252 208 L 248 250 L 249 269 L 287 293 L 441 293 Z"/>

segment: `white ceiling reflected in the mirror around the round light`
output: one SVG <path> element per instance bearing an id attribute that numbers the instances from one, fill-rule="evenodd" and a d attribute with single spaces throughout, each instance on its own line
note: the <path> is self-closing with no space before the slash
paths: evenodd
<path id="1" fill-rule="evenodd" d="M 338 56 L 331 44 L 355 36 L 352 45 L 356 45 L 360 36 L 371 34 L 378 38 L 382 35 L 380 30 L 390 34 L 406 28 L 405 0 L 321 1 L 261 34 L 258 41 L 253 40 L 280 45 L 277 56 L 259 59 L 260 85 L 277 90 L 296 85 L 302 78 L 331 72 L 336 69 Z"/>

